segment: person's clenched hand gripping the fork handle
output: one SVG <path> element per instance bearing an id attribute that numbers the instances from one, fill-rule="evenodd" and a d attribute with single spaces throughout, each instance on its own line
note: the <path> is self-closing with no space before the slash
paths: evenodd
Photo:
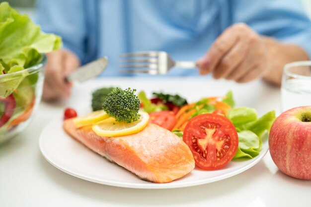
<path id="1" fill-rule="evenodd" d="M 246 24 L 225 30 L 197 64 L 200 74 L 236 82 L 249 82 L 269 70 L 268 52 L 262 38 Z"/>

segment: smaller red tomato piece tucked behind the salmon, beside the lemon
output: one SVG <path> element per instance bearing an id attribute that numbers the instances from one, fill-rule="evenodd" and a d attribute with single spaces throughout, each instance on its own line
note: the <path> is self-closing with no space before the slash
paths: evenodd
<path id="1" fill-rule="evenodd" d="M 158 111 L 149 114 L 149 122 L 163 127 L 169 131 L 173 129 L 177 120 L 171 111 Z"/>

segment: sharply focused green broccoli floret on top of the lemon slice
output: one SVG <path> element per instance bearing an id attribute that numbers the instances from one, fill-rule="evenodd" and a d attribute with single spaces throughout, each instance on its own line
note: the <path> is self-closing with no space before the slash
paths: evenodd
<path id="1" fill-rule="evenodd" d="M 122 90 L 113 89 L 103 103 L 103 109 L 107 114 L 116 119 L 117 122 L 131 123 L 140 117 L 140 100 L 134 94 L 136 89 L 131 88 Z"/>

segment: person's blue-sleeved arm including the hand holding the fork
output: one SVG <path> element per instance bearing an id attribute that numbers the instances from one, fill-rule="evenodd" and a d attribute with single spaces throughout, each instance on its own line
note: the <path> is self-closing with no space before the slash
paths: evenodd
<path id="1" fill-rule="evenodd" d="M 201 74 L 212 72 L 215 78 L 237 82 L 263 77 L 280 84 L 286 63 L 309 59 L 311 45 L 306 42 L 311 39 L 311 22 L 299 2 L 230 2 L 233 26 L 198 61 Z"/>

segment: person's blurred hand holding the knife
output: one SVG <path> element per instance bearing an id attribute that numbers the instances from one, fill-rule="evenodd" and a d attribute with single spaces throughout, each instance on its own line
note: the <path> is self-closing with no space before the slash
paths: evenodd
<path id="1" fill-rule="evenodd" d="M 72 83 L 65 78 L 79 67 L 78 57 L 70 51 L 59 50 L 48 53 L 47 59 L 42 99 L 51 101 L 68 97 Z"/>

